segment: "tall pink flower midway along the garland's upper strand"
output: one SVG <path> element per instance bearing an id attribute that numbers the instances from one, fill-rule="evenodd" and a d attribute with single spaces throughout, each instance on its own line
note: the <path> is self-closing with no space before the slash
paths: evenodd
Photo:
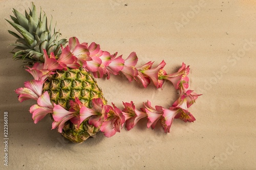
<path id="1" fill-rule="evenodd" d="M 124 66 L 121 71 L 130 82 L 138 75 L 138 70 L 135 68 L 137 62 L 138 57 L 135 52 L 132 52 L 129 57 L 124 60 Z"/>

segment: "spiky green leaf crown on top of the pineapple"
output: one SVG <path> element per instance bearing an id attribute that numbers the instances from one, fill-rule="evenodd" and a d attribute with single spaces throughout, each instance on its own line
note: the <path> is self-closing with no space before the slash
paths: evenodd
<path id="1" fill-rule="evenodd" d="M 60 55 L 61 45 L 67 43 L 67 39 L 59 39 L 61 34 L 55 31 L 55 26 L 52 25 L 52 17 L 48 28 L 47 16 L 40 9 L 40 15 L 37 16 L 36 7 L 32 3 L 32 8 L 29 13 L 25 11 L 25 16 L 13 9 L 14 16 L 10 16 L 12 21 L 7 20 L 18 33 L 8 30 L 8 32 L 17 38 L 16 43 L 10 44 L 15 46 L 13 51 L 14 60 L 22 59 L 28 65 L 33 65 L 35 62 L 44 62 L 44 49 L 47 54 L 51 52 L 55 56 Z"/>

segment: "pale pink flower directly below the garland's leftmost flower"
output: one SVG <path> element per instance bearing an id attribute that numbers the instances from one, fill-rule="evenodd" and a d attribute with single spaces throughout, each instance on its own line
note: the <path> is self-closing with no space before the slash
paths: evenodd
<path id="1" fill-rule="evenodd" d="M 47 114 L 53 112 L 53 105 L 47 91 L 38 98 L 37 104 L 31 106 L 29 111 L 32 114 L 35 124 L 37 124 Z"/>

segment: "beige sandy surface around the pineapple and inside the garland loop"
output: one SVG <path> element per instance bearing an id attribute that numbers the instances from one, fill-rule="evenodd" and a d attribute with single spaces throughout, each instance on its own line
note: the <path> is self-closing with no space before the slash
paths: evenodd
<path id="1" fill-rule="evenodd" d="M 51 130 L 47 117 L 31 120 L 33 101 L 19 103 L 14 90 L 32 77 L 9 53 L 15 38 L 4 20 L 12 8 L 24 13 L 31 1 L 0 1 L 1 138 L 4 112 L 9 115 L 9 166 L 1 169 L 256 169 L 255 1 L 34 1 L 57 21 L 62 38 L 96 42 L 102 50 L 127 57 L 135 51 L 138 65 L 167 63 L 174 72 L 190 65 L 190 89 L 203 93 L 190 111 L 194 123 L 175 120 L 171 132 L 146 128 L 146 120 L 111 138 L 98 133 L 82 144 Z M 144 89 L 123 76 L 98 80 L 109 103 L 137 107 L 150 100 L 168 107 L 177 98 L 170 83 L 163 90 Z"/>

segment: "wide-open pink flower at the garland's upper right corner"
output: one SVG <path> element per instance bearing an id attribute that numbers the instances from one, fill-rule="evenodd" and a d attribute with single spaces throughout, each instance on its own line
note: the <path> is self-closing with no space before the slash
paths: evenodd
<path id="1" fill-rule="evenodd" d="M 188 88 L 188 81 L 189 81 L 187 77 L 188 74 L 189 74 L 189 65 L 186 67 L 186 64 L 182 63 L 182 66 L 177 72 L 170 75 L 162 76 L 162 79 L 169 80 L 170 82 L 172 82 L 176 89 L 179 88 L 179 84 L 181 81 L 185 81 L 184 82 L 185 87 Z"/>

